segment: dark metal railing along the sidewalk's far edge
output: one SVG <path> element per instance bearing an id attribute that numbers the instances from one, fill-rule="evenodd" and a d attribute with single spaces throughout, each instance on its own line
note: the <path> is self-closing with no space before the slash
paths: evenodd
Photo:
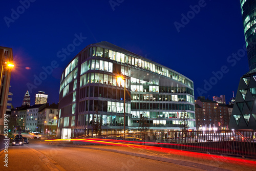
<path id="1" fill-rule="evenodd" d="M 168 131 L 104 135 L 129 143 L 256 158 L 255 131 Z M 124 141 L 123 141 L 124 142 Z"/>

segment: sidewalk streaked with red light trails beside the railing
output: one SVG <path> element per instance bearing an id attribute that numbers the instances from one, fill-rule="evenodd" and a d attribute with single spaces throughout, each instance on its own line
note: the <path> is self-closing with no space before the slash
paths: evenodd
<path id="1" fill-rule="evenodd" d="M 59 145 L 122 153 L 147 159 L 180 164 L 189 167 L 196 167 L 205 170 L 255 170 L 256 168 L 256 160 L 252 159 L 187 152 L 169 148 L 156 148 L 151 146 L 135 147 L 132 145 L 81 145 L 73 144 L 72 142 L 62 142 Z"/>

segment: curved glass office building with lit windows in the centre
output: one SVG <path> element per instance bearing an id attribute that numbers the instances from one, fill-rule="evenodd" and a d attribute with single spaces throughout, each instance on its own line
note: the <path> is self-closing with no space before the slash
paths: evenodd
<path id="1" fill-rule="evenodd" d="M 124 124 L 137 131 L 142 115 L 151 131 L 181 130 L 183 116 L 196 130 L 193 81 L 106 41 L 84 48 L 63 71 L 58 138 L 91 133 L 94 116 L 102 134 L 121 133 Z"/>

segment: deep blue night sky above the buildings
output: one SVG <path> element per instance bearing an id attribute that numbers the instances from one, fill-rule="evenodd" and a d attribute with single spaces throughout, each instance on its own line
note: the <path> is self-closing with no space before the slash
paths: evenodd
<path id="1" fill-rule="evenodd" d="M 226 95 L 228 102 L 232 91 L 237 93 L 240 77 L 248 72 L 247 54 L 236 63 L 229 58 L 232 53 L 244 52 L 239 0 L 113 0 L 119 2 L 113 8 L 109 0 L 33 1 L 27 9 L 20 7 L 19 1 L 1 2 L 0 46 L 13 49 L 15 62 L 10 88 L 14 107 L 22 104 L 29 90 L 27 84 L 34 84 L 34 75 L 39 76 L 44 72 L 42 67 L 50 66 L 54 60 L 58 68 L 33 88 L 30 96 L 34 104 L 35 93 L 45 91 L 48 102 L 57 103 L 63 69 L 83 48 L 100 41 L 111 42 L 190 78 L 194 81 L 195 98 L 199 96 L 197 89 L 204 90 L 204 80 L 209 81 L 214 76 L 212 72 L 226 66 L 228 72 L 202 95 L 209 99 Z M 202 7 L 193 16 L 189 6 L 199 3 Z M 13 11 L 18 11 L 19 16 Z M 191 19 L 183 22 L 178 32 L 174 23 L 181 23 L 182 14 L 187 13 Z M 61 61 L 57 52 L 73 44 L 75 34 L 87 38 Z"/>

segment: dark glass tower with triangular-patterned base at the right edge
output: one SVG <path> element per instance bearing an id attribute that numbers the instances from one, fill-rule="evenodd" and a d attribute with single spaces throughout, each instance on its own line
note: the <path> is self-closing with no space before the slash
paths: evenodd
<path id="1" fill-rule="evenodd" d="M 240 0 L 249 72 L 240 78 L 229 129 L 256 129 L 256 0 Z"/>

